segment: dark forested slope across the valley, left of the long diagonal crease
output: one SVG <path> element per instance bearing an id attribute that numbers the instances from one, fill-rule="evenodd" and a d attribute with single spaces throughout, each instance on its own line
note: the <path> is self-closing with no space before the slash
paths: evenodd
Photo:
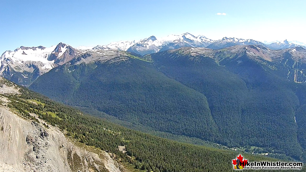
<path id="1" fill-rule="evenodd" d="M 129 60 L 54 68 L 30 88 L 66 104 L 95 108 L 155 130 L 218 139 L 218 127 L 203 94 L 166 77 L 148 62 Z"/>

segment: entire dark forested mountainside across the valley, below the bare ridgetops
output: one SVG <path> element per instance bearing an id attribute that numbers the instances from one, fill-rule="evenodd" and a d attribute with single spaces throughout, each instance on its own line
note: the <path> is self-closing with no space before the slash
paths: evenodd
<path id="1" fill-rule="evenodd" d="M 297 110 L 306 92 L 286 79 L 291 57 L 272 62 L 226 50 L 214 57 L 180 51 L 66 64 L 29 88 L 154 130 L 305 160 L 304 126 L 294 117 L 303 121 Z"/>

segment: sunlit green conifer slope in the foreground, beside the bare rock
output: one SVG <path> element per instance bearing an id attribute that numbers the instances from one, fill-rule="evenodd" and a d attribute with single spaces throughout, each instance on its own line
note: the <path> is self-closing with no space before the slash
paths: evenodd
<path id="1" fill-rule="evenodd" d="M 15 109 L 18 114 L 27 118 L 30 117 L 29 112 L 35 113 L 51 125 L 66 130 L 67 136 L 108 150 L 117 155 L 118 161 L 126 165 L 132 164 L 136 169 L 154 172 L 233 171 L 231 160 L 239 154 L 183 144 L 130 130 L 100 118 L 84 115 L 27 89 L 20 91 L 21 95 L 2 95 L 9 98 L 9 107 Z M 118 145 L 125 146 L 127 153 L 120 152 Z M 276 161 L 264 156 L 243 156 L 249 161 Z"/>

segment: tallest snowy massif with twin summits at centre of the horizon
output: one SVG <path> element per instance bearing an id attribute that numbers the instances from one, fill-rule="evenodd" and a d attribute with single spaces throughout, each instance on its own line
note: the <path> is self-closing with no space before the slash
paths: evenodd
<path id="1" fill-rule="evenodd" d="M 182 35 L 169 35 L 163 38 L 156 38 L 151 36 L 147 39 L 140 40 L 136 44 L 132 45 L 127 51 L 144 55 L 147 53 L 156 53 L 168 49 L 176 49 L 180 47 L 206 47 L 214 42 L 214 40 L 208 39 L 205 36 L 199 35 L 198 37 L 191 35 L 190 33 L 184 33 Z"/>

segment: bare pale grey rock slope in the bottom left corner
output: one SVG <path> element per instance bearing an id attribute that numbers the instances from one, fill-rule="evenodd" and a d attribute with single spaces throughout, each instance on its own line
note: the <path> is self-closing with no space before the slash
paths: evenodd
<path id="1" fill-rule="evenodd" d="M 11 112 L 3 94 L 19 93 L 18 88 L 3 78 L 0 83 L 0 172 L 123 171 L 110 153 L 93 153 L 40 119 L 37 123 Z"/>

